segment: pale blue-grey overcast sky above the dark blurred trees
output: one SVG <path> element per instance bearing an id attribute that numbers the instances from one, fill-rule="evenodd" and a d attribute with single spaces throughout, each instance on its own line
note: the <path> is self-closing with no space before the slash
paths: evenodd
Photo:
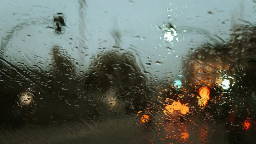
<path id="1" fill-rule="evenodd" d="M 256 21 L 253 0 L 85 0 L 83 8 L 78 0 L 0 1 L 0 36 L 6 38 L 16 27 L 5 47 L 4 54 L 9 56 L 6 59 L 18 65 L 18 62 L 27 66 L 36 64 L 42 69 L 47 69 L 50 63 L 52 46 L 58 45 L 82 64 L 78 68 L 85 71 L 84 66 L 99 48 L 115 45 L 116 31 L 121 34 L 120 47 L 132 47 L 129 50 L 138 54 L 146 71 L 159 78 L 169 72 L 175 76 L 182 56 L 191 47 L 209 40 L 205 34 L 227 40 L 238 19 Z M 67 27 L 62 35 L 46 28 L 54 26 L 52 19 L 57 12 L 66 18 Z M 176 26 L 177 36 L 171 42 L 165 41 L 164 31 L 157 29 L 168 22 Z M 197 30 L 191 32 L 191 29 Z M 145 65 L 148 60 L 152 61 L 150 67 Z M 155 64 L 156 61 L 163 64 Z"/>

